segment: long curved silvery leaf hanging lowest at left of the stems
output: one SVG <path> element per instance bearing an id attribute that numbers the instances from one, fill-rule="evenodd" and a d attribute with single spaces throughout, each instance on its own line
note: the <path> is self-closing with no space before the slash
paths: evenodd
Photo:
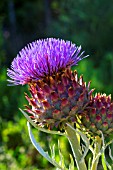
<path id="1" fill-rule="evenodd" d="M 55 160 L 51 159 L 50 156 L 48 155 L 47 152 L 45 152 L 43 150 L 43 148 L 40 146 L 39 143 L 36 142 L 32 132 L 31 132 L 31 128 L 30 128 L 30 124 L 29 122 L 27 122 L 27 126 L 28 126 L 28 131 L 29 131 L 29 136 L 31 139 L 32 144 L 34 145 L 34 147 L 37 149 L 37 151 L 43 156 L 45 157 L 51 164 L 53 164 L 54 166 L 56 166 L 57 168 L 59 168 L 60 170 L 64 170 L 64 168 L 62 168 Z"/>

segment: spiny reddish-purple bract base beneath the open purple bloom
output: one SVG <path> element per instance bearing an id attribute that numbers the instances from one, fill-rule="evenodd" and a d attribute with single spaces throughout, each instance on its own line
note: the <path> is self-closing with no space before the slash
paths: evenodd
<path id="1" fill-rule="evenodd" d="M 76 122 L 76 115 L 82 112 L 90 102 L 92 91 L 78 79 L 77 72 L 66 69 L 53 77 L 47 77 L 30 84 L 32 97 L 26 94 L 31 108 L 27 112 L 39 126 L 62 128 L 66 122 Z"/>

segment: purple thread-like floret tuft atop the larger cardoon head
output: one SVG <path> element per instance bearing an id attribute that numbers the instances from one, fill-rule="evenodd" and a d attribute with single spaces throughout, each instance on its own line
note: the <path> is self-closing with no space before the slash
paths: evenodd
<path id="1" fill-rule="evenodd" d="M 11 69 L 7 70 L 11 78 L 8 81 L 23 85 L 51 76 L 83 59 L 84 52 L 80 51 L 81 46 L 77 47 L 70 41 L 55 38 L 34 41 L 14 58 Z"/>

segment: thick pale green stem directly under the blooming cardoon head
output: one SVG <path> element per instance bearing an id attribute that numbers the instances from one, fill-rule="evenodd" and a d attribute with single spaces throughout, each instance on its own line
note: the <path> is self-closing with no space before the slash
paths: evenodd
<path id="1" fill-rule="evenodd" d="M 73 155 L 75 157 L 78 170 L 87 170 L 84 159 L 81 161 L 82 151 L 76 132 L 70 126 L 67 126 L 65 130 L 73 151 Z"/>

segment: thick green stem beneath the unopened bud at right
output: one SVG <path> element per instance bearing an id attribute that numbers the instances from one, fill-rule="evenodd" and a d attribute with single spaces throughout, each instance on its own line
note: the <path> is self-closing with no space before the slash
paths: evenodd
<path id="1" fill-rule="evenodd" d="M 101 155 L 100 154 L 101 143 L 102 143 L 101 138 L 99 136 L 97 136 L 95 143 L 94 143 L 95 150 L 94 150 L 94 154 L 93 154 L 91 170 L 97 170 L 99 158 L 100 158 L 100 155 Z"/>

